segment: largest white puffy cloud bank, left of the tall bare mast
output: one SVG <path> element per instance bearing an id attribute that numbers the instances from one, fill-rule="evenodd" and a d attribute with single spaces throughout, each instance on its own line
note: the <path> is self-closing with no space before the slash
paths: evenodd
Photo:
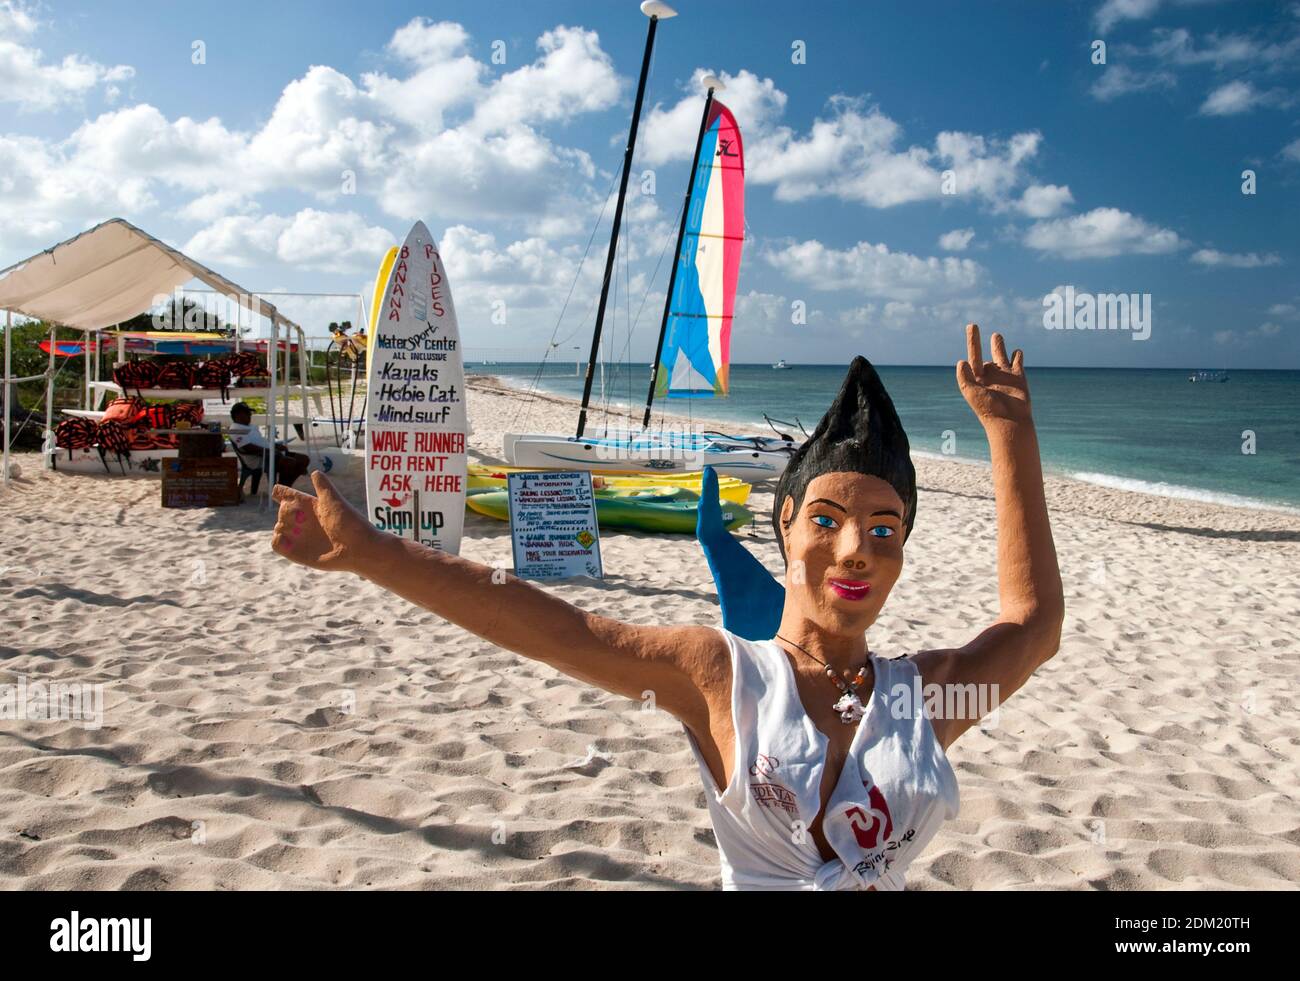
<path id="1" fill-rule="evenodd" d="M 16 9 L 0 5 L 10 23 Z M 555 233 L 581 218 L 585 227 L 601 203 L 595 168 L 533 123 L 615 104 L 620 81 L 597 35 L 547 31 L 534 61 L 495 74 L 467 44 L 460 25 L 416 18 L 387 45 L 395 74 L 369 73 L 358 84 L 312 66 L 248 133 L 216 117 L 169 118 L 148 104 L 101 113 L 62 143 L 31 144 L 38 152 L 29 147 L 26 160 L 0 172 L 0 204 L 39 227 L 42 242 L 64 230 L 61 218 L 152 207 L 160 187 L 198 192 L 181 213 L 205 223 L 290 191 L 333 209 L 355 192 L 403 221 L 482 216 Z"/>

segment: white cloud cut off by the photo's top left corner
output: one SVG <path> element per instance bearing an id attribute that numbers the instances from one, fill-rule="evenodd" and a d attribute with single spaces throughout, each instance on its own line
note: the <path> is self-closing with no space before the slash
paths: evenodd
<path id="1" fill-rule="evenodd" d="M 36 34 L 39 26 L 32 8 L 12 0 L 0 3 L 0 103 L 48 112 L 99 86 L 116 90 L 112 83 L 134 77 L 135 69 L 129 65 L 100 65 L 81 55 L 47 61 L 39 48 L 20 40 Z"/>

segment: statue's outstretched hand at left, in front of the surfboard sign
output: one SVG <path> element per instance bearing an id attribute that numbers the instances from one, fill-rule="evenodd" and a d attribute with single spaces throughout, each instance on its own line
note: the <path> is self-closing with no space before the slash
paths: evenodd
<path id="1" fill-rule="evenodd" d="M 272 498 L 280 516 L 270 547 L 295 563 L 325 572 L 359 572 L 360 561 L 377 544 L 377 531 L 347 503 L 320 470 L 312 472 L 317 496 L 280 483 Z"/>

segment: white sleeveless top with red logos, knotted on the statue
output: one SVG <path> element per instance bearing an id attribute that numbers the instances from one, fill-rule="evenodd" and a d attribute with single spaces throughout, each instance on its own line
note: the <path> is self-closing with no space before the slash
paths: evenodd
<path id="1" fill-rule="evenodd" d="M 926 713 L 915 711 L 916 665 L 871 656 L 875 687 L 822 820 L 838 858 L 823 861 L 807 829 L 822 809 L 827 738 L 803 711 L 775 641 L 719 631 L 731 648 L 736 730 L 722 793 L 689 729 L 686 739 L 705 784 L 723 889 L 901 890 L 904 871 L 958 811 L 957 774 Z M 833 694 L 828 685 L 827 698 Z"/>

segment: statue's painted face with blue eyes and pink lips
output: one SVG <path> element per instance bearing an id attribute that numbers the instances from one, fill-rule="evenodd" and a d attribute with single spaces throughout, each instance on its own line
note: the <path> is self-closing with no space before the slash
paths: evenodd
<path id="1" fill-rule="evenodd" d="M 861 634 L 902 572 L 902 499 L 879 477 L 827 473 L 793 512 L 786 498 L 785 602 L 832 634 Z"/>

